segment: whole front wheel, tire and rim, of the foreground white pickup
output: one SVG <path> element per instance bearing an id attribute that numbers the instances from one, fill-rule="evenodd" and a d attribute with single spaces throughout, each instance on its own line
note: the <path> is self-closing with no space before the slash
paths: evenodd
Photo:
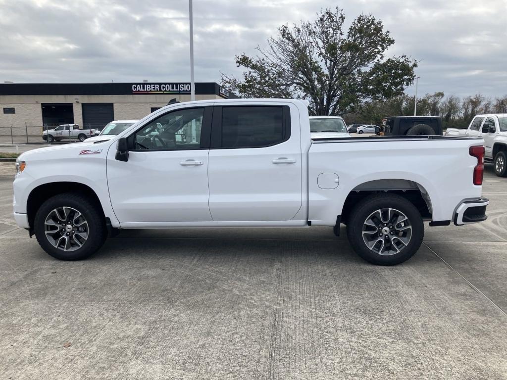
<path id="1" fill-rule="evenodd" d="M 60 260 L 81 260 L 104 243 L 107 232 L 102 213 L 89 198 L 58 194 L 45 201 L 33 229 L 41 247 Z"/>

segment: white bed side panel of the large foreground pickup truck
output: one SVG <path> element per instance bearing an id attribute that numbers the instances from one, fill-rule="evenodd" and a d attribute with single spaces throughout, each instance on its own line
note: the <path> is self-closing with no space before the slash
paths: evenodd
<path id="1" fill-rule="evenodd" d="M 309 219 L 329 225 L 349 194 L 364 188 L 399 187 L 404 181 L 407 188 L 427 195 L 433 221 L 452 220 L 461 201 L 481 196 L 481 186 L 473 184 L 478 162 L 469 147 L 482 144 L 481 138 L 453 136 L 312 139 L 308 177 L 336 175 L 339 184 L 330 191 L 309 181 Z"/>

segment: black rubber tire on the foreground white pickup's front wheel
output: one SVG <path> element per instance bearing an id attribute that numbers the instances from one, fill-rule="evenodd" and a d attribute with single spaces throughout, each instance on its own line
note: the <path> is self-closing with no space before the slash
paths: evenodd
<path id="1" fill-rule="evenodd" d="M 83 240 L 80 238 L 82 246 L 72 251 L 65 251 L 62 248 L 55 247 L 55 245 L 51 244 L 48 238 L 46 237 L 46 224 L 45 224 L 46 219 L 49 217 L 49 214 L 52 212 L 52 210 L 59 209 L 62 207 L 77 210 L 83 215 L 85 221 L 87 222 L 86 241 L 83 242 Z M 69 212 L 68 220 L 70 221 L 73 217 L 74 217 L 73 214 Z M 67 222 L 64 222 L 64 224 L 65 223 Z M 75 220 L 73 219 L 71 223 L 74 224 Z M 35 237 L 37 237 L 37 241 L 39 242 L 41 247 L 49 255 L 60 260 L 82 260 L 84 258 L 87 258 L 90 255 L 97 252 L 100 249 L 100 247 L 104 244 L 105 239 L 107 238 L 107 229 L 105 225 L 105 220 L 99 206 L 97 206 L 95 202 L 91 201 L 88 197 L 76 193 L 58 194 L 45 201 L 37 211 L 37 214 L 35 214 L 33 229 L 35 232 Z M 63 231 L 66 231 L 65 225 L 62 225 L 61 230 L 60 227 L 58 226 L 55 231 L 63 235 L 64 234 Z M 74 230 L 71 233 L 73 232 Z M 63 236 L 62 238 L 65 239 L 65 237 Z M 57 238 L 54 238 L 55 241 L 56 239 Z M 67 240 L 73 242 L 73 239 L 71 238 Z M 64 241 L 62 242 L 64 243 Z"/>

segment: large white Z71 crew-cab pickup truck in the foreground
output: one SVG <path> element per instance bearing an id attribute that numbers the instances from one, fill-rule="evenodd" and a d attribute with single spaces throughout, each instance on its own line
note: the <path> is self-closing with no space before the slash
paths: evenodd
<path id="1" fill-rule="evenodd" d="M 486 219 L 482 139 L 310 138 L 307 103 L 227 99 L 165 106 L 112 140 L 18 158 L 14 216 L 50 255 L 96 252 L 119 229 L 347 226 L 382 265 L 429 225 Z"/>

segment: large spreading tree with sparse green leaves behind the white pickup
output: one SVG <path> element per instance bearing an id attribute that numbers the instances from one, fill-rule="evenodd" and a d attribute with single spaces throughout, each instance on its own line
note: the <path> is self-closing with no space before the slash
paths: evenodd
<path id="1" fill-rule="evenodd" d="M 315 115 L 343 115 L 401 95 L 414 81 L 416 61 L 385 58 L 394 40 L 374 16 L 358 16 L 346 34 L 344 22 L 336 8 L 320 11 L 315 21 L 279 27 L 257 56 L 236 56 L 242 78 L 222 74 L 223 86 L 242 97 L 308 99 Z"/>

